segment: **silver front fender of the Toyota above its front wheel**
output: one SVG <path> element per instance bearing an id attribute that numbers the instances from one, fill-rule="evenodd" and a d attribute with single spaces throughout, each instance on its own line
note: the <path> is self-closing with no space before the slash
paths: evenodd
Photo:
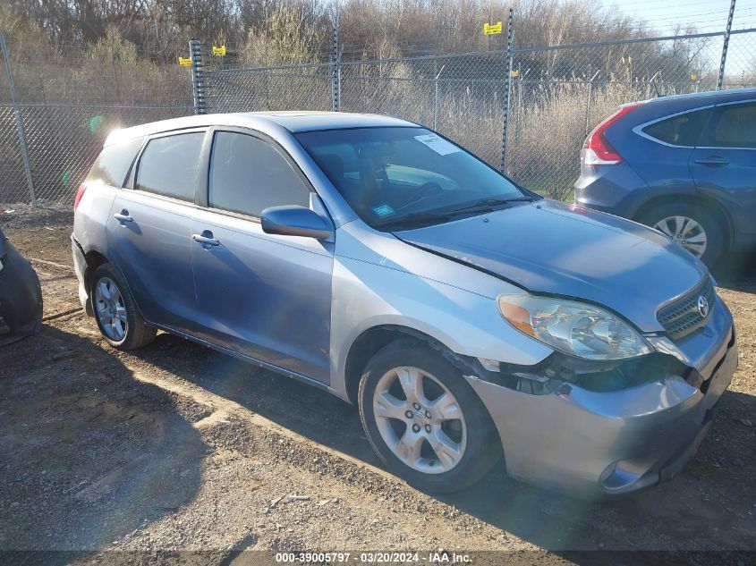
<path id="1" fill-rule="evenodd" d="M 344 237 L 336 237 L 337 246 Z M 394 242 L 398 244 L 395 246 Z M 361 258 L 336 254 L 333 272 L 331 315 L 331 388 L 347 399 L 345 366 L 347 355 L 357 338 L 370 328 L 395 325 L 427 334 L 450 351 L 472 358 L 487 358 L 507 363 L 533 365 L 552 350 L 514 330 L 498 312 L 498 292 L 521 291 L 491 275 L 481 274 L 446 258 L 394 240 L 388 255 L 401 250 L 403 265 L 387 256 Z M 353 251 L 353 249 L 352 249 Z M 432 263 L 446 282 L 430 277 Z M 425 274 L 419 273 L 425 271 Z M 481 293 L 463 289 L 479 277 L 498 292 Z M 522 292 L 522 291 L 521 291 Z"/>

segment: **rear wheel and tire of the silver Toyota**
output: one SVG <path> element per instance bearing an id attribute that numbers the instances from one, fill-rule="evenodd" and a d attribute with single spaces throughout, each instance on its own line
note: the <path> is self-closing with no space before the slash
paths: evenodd
<path id="1" fill-rule="evenodd" d="M 144 322 L 129 287 L 114 266 L 98 266 L 90 281 L 95 320 L 107 343 L 118 350 L 136 350 L 155 340 L 157 330 Z"/>

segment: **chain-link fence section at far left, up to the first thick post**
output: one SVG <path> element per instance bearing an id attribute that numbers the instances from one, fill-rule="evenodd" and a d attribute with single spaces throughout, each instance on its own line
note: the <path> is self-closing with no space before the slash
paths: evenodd
<path id="1" fill-rule="evenodd" d="M 187 69 L 108 40 L 9 53 L 0 33 L 0 204 L 71 204 L 107 134 L 193 114 Z"/>

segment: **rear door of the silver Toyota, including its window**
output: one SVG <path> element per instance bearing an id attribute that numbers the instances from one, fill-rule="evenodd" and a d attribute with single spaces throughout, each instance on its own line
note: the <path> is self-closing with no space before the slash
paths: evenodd
<path id="1" fill-rule="evenodd" d="M 195 327 L 191 213 L 205 135 L 191 130 L 150 138 L 107 222 L 111 260 L 142 315 L 182 332 Z"/>

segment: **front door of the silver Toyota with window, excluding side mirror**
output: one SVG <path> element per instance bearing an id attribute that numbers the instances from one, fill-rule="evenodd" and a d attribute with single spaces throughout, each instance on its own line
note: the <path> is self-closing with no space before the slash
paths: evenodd
<path id="1" fill-rule="evenodd" d="M 203 338 L 328 383 L 333 244 L 267 234 L 259 222 L 279 205 L 323 213 L 314 195 L 273 140 L 217 129 L 191 259 Z"/>

